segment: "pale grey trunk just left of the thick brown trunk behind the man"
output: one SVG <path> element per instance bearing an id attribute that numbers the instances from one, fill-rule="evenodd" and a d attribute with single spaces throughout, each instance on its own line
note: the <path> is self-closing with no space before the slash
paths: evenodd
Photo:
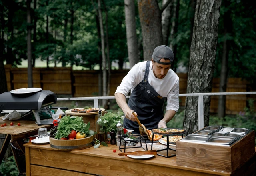
<path id="1" fill-rule="evenodd" d="M 139 62 L 135 21 L 135 1 L 124 0 L 126 39 L 130 69 Z"/>

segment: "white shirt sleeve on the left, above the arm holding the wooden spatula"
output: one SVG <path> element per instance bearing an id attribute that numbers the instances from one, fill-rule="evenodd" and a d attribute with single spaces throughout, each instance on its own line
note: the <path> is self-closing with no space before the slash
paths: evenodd
<path id="1" fill-rule="evenodd" d="M 138 64 L 134 65 L 128 74 L 123 78 L 121 84 L 117 87 L 116 93 L 128 95 L 130 90 L 137 85 L 138 78 Z"/>

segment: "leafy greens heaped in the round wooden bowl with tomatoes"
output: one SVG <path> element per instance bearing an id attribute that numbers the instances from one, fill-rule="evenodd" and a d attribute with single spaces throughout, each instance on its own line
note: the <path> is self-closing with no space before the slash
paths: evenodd
<path id="1" fill-rule="evenodd" d="M 72 130 L 80 132 L 81 134 L 85 133 L 85 136 L 94 135 L 94 131 L 89 130 L 90 122 L 87 124 L 84 123 L 82 117 L 70 117 L 64 116 L 58 125 L 55 139 L 66 138 Z"/>

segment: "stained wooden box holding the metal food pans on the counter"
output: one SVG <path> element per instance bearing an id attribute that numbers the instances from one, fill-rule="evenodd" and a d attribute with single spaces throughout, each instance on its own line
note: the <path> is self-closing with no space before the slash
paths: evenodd
<path id="1" fill-rule="evenodd" d="M 231 146 L 180 140 L 176 143 L 177 165 L 232 173 L 254 154 L 254 138 L 251 131 Z"/>

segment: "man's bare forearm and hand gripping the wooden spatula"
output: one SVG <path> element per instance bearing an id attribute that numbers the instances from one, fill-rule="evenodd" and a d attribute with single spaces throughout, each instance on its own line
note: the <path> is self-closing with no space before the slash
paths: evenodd
<path id="1" fill-rule="evenodd" d="M 115 98 L 116 98 L 116 102 L 117 102 L 118 106 L 124 112 L 125 117 L 128 118 L 129 120 L 136 121 L 136 118 L 134 117 L 134 115 L 132 115 L 133 110 L 131 110 L 129 108 L 128 104 L 126 103 L 126 98 L 125 98 L 124 94 L 116 93 Z M 136 112 L 134 112 L 134 113 L 137 115 Z"/>

